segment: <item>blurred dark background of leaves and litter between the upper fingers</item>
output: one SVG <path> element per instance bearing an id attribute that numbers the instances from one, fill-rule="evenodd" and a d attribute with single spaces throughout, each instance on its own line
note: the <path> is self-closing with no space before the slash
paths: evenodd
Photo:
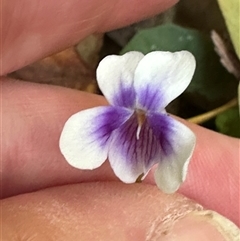
<path id="1" fill-rule="evenodd" d="M 112 32 L 90 35 L 76 46 L 9 76 L 101 94 L 95 73 L 106 55 L 131 50 L 144 54 L 188 50 L 197 61 L 193 80 L 167 111 L 214 131 L 240 137 L 240 42 L 236 42 L 240 32 L 239 5 L 238 0 L 181 0 L 157 16 Z"/>

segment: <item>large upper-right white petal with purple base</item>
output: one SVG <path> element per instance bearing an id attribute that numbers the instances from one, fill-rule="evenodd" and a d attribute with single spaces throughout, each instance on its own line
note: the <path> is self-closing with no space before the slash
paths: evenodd
<path id="1" fill-rule="evenodd" d="M 161 111 L 187 88 L 195 66 L 195 58 L 188 51 L 156 51 L 144 56 L 134 77 L 137 107 Z"/>

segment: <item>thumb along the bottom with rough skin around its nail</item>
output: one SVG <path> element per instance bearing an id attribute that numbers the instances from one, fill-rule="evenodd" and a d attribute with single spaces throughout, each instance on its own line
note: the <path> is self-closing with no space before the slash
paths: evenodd
<path id="1" fill-rule="evenodd" d="M 82 183 L 2 201 L 3 240 L 237 240 L 229 220 L 148 184 Z M 16 235 L 17 234 L 17 235 Z"/>

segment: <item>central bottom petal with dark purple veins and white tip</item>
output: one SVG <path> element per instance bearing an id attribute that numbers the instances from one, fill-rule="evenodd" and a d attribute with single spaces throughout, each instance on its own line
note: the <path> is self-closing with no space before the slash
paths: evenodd
<path id="1" fill-rule="evenodd" d="M 137 139 L 137 118 L 133 115 L 112 133 L 109 162 L 114 173 L 125 183 L 133 183 L 159 162 L 157 138 L 145 122 Z"/>

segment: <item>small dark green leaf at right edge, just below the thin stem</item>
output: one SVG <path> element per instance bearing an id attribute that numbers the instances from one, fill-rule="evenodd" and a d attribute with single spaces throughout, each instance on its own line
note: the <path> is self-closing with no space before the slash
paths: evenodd
<path id="1" fill-rule="evenodd" d="M 219 132 L 240 138 L 240 118 L 238 106 L 219 114 L 216 117 L 215 123 Z"/>

